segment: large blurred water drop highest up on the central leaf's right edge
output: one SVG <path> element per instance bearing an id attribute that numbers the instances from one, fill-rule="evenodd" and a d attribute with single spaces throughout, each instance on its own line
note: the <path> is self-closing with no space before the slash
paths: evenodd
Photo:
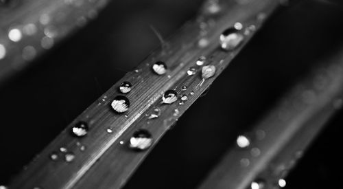
<path id="1" fill-rule="evenodd" d="M 235 27 L 229 27 L 220 35 L 220 45 L 222 49 L 231 51 L 237 48 L 244 40 L 244 35 Z"/>

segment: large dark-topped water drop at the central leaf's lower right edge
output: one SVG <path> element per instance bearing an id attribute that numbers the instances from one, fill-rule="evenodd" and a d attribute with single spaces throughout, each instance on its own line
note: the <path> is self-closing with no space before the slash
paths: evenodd
<path id="1" fill-rule="evenodd" d="M 145 129 L 135 131 L 130 138 L 130 148 L 137 151 L 144 151 L 152 146 L 152 135 Z"/>

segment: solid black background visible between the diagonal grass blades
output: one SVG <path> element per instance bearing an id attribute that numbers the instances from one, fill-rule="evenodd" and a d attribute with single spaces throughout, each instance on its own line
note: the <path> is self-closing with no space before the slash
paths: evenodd
<path id="1" fill-rule="evenodd" d="M 276 12 L 125 188 L 195 188 L 239 133 L 342 46 L 343 8 L 337 2 L 292 2 Z M 0 185 L 158 47 L 150 25 L 170 36 L 201 3 L 113 1 L 84 30 L 1 87 Z M 342 123 L 338 112 L 286 178 L 286 188 L 342 188 Z"/>

